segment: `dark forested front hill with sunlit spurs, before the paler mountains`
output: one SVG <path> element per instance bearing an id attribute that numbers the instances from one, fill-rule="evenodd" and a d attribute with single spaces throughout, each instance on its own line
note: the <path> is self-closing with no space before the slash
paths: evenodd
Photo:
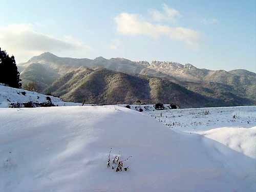
<path id="1" fill-rule="evenodd" d="M 168 79 L 138 77 L 106 69 L 77 70 L 56 80 L 47 89 L 66 101 L 94 104 L 178 103 L 182 108 L 223 106 L 227 103 L 191 92 Z"/>

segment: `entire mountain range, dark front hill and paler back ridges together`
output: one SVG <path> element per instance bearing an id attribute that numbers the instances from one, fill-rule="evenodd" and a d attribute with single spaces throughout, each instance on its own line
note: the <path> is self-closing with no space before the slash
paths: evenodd
<path id="1" fill-rule="evenodd" d="M 145 103 L 174 102 L 174 98 L 179 103 L 186 103 L 185 107 L 256 103 L 256 74 L 246 70 L 211 71 L 190 64 L 134 62 L 124 58 L 77 59 L 58 57 L 49 52 L 20 63 L 18 68 L 23 84 L 37 82 L 41 93 L 53 93 L 68 101 L 81 102 L 87 95 L 88 102 L 101 104 L 130 103 L 134 99 Z M 158 89 L 151 86 L 152 81 L 159 82 Z M 166 91 L 170 89 L 168 84 L 179 86 L 180 91 Z M 200 95 L 206 100 L 203 104 L 195 100 L 185 101 L 186 91 L 183 89 L 190 91 L 189 94 L 197 94 L 197 99 Z"/>

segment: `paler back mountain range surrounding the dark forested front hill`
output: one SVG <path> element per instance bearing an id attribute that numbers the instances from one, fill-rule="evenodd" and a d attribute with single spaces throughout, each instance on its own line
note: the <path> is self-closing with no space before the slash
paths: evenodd
<path id="1" fill-rule="evenodd" d="M 40 66 L 40 70 L 36 70 L 35 66 Z M 58 57 L 49 52 L 32 57 L 28 62 L 20 63 L 18 68 L 22 70 L 20 76 L 23 82 L 37 82 L 40 85 L 39 91 L 42 93 L 56 92 L 57 89 L 52 88 L 52 86 L 54 87 L 55 81 L 62 81 L 63 78 L 67 78 L 67 76 L 65 76 L 67 74 L 72 76 L 70 73 L 75 72 L 79 74 L 79 70 L 81 70 L 80 74 L 82 75 L 82 71 L 86 70 L 84 68 L 94 71 L 99 71 L 104 68 L 113 72 L 132 75 L 131 78 L 134 79 L 137 77 L 142 79 L 145 77 L 161 78 L 163 81 L 167 80 L 178 84 L 199 95 L 217 99 L 221 101 L 222 104 L 226 103 L 227 106 L 229 106 L 230 103 L 231 105 L 256 103 L 256 74 L 247 70 L 231 70 L 229 72 L 225 70 L 212 71 L 198 69 L 189 63 L 185 65 L 178 62 L 166 61 L 152 61 L 152 63 L 149 63 L 147 61 L 135 62 L 125 58 L 106 59 L 104 57 L 97 57 L 95 59 L 69 58 Z M 44 71 L 44 73 L 42 73 L 42 71 Z M 42 76 L 41 73 L 44 74 L 44 76 Z M 72 78 L 77 78 L 77 76 L 72 76 Z M 100 78 L 98 81 L 99 80 Z M 99 83 L 98 81 L 94 80 L 94 83 L 97 84 Z M 73 79 L 72 82 L 76 83 L 75 79 Z M 136 87 L 135 84 L 129 84 L 129 86 Z M 162 86 L 162 84 L 160 86 Z M 67 86 L 67 89 L 68 87 L 69 86 Z M 71 84 L 70 87 L 72 87 Z M 92 87 L 90 89 L 92 89 Z M 119 87 L 119 89 L 121 89 L 121 87 Z M 61 93 L 63 92 L 65 91 L 62 90 Z M 150 93 L 147 94 L 150 95 Z M 72 98 L 71 94 L 61 96 L 68 100 Z M 114 97 L 114 95 L 112 95 L 112 97 Z M 158 98 L 160 97 L 161 96 L 158 95 Z M 125 101 L 125 99 L 121 100 Z M 161 97 L 160 100 L 164 99 Z M 98 101 L 101 102 L 100 100 Z M 113 102 L 114 101 L 115 100 L 113 100 Z M 105 102 L 102 103 L 105 104 Z M 108 104 L 115 103 L 110 102 Z"/>

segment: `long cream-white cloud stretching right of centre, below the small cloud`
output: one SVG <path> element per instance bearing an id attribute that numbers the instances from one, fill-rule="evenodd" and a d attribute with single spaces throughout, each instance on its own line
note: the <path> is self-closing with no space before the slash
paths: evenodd
<path id="1" fill-rule="evenodd" d="M 155 25 L 137 14 L 121 13 L 115 17 L 115 22 L 117 31 L 124 35 L 147 35 L 154 38 L 165 35 L 170 39 L 186 42 L 188 45 L 196 45 L 199 40 L 199 33 L 195 30 Z"/>

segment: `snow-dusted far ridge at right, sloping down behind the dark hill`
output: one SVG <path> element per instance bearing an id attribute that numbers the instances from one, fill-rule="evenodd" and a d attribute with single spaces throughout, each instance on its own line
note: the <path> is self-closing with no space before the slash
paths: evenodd
<path id="1" fill-rule="evenodd" d="M 226 87 L 228 88 L 226 91 L 231 91 L 230 93 L 234 95 L 256 100 L 256 74 L 247 70 L 212 71 L 199 69 L 191 64 L 182 65 L 177 62 L 165 61 L 152 61 L 152 63 L 139 61 L 138 63 L 148 69 L 177 79 L 176 83 L 183 86 L 184 82 L 190 82 L 190 86 L 186 88 L 191 88 L 192 91 L 196 91 L 194 88 L 198 88 L 198 83 L 200 83 L 200 87 L 203 86 L 211 91 Z M 191 86 L 193 83 L 194 86 Z M 212 89 L 212 86 L 215 88 Z"/>

